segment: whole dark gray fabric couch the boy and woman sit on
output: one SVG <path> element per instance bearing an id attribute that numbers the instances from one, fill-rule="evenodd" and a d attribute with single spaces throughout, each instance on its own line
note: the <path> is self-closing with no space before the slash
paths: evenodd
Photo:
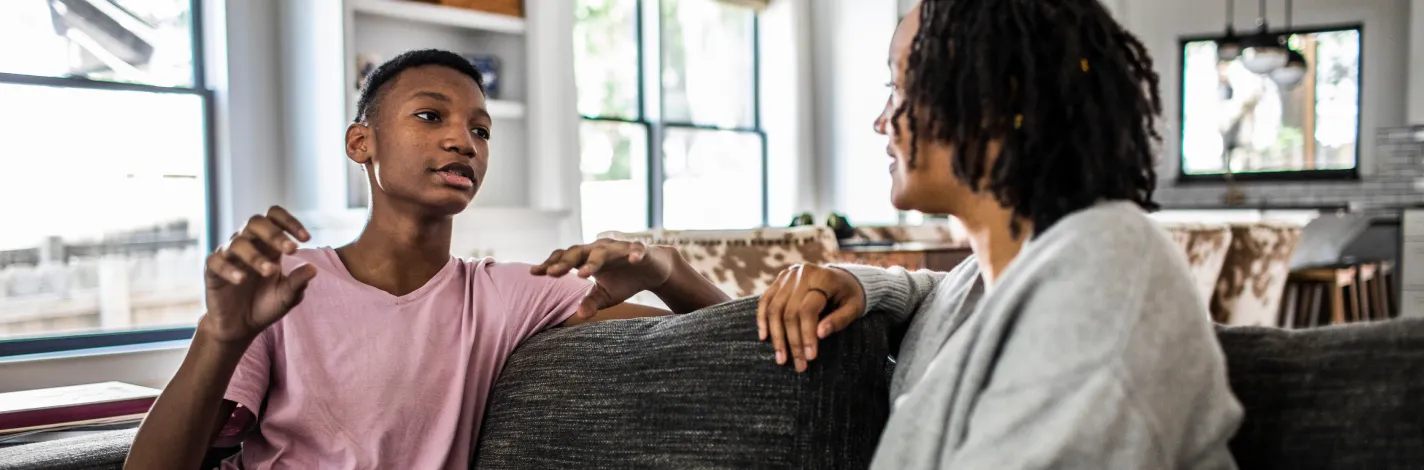
<path id="1" fill-rule="evenodd" d="M 884 325 L 807 375 L 770 366 L 743 299 L 523 345 L 491 395 L 481 469 L 863 467 L 886 413 Z M 1424 467 L 1424 319 L 1219 328 L 1242 469 Z M 869 357 L 869 359 L 867 359 Z M 118 469 L 132 432 L 0 449 L 6 469 Z"/>

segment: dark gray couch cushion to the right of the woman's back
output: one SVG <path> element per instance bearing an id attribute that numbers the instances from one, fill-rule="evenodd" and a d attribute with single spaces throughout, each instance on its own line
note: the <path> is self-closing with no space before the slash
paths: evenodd
<path id="1" fill-rule="evenodd" d="M 1424 463 L 1424 319 L 1218 336 L 1246 407 L 1230 443 L 1242 469 Z"/>

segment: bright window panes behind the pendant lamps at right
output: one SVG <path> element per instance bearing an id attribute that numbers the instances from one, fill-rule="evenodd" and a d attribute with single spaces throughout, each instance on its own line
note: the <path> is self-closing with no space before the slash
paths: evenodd
<path id="1" fill-rule="evenodd" d="M 1182 43 L 1182 178 L 1356 178 L 1360 28 L 1286 34 L 1304 57 L 1294 87 L 1218 61 L 1213 38 Z"/>

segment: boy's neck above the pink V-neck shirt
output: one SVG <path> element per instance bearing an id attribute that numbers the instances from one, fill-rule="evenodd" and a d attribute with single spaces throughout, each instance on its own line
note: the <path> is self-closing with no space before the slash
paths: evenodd
<path id="1" fill-rule="evenodd" d="M 402 296 L 420 289 L 450 262 L 451 231 L 450 216 L 372 208 L 360 236 L 336 254 L 356 281 Z"/>

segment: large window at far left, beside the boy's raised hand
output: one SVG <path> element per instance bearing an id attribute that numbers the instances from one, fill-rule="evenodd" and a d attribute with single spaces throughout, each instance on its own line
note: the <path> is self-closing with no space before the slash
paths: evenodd
<path id="1" fill-rule="evenodd" d="M 198 3 L 0 1 L 0 356 L 192 335 L 212 241 Z"/>

